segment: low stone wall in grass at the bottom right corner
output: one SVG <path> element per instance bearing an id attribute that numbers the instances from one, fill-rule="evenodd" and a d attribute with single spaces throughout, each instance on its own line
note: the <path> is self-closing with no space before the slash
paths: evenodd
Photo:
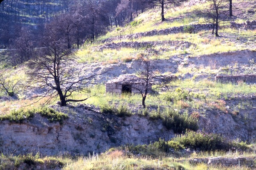
<path id="1" fill-rule="evenodd" d="M 232 165 L 253 165 L 255 158 L 249 157 L 236 157 L 236 158 L 224 158 L 221 156 L 214 158 L 206 158 L 206 159 L 191 159 L 190 163 L 206 163 L 206 164 L 221 164 L 224 166 L 232 166 Z"/>

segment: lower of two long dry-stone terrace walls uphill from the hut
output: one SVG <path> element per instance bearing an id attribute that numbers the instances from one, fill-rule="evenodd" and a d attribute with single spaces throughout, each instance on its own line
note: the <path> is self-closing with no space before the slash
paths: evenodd
<path id="1" fill-rule="evenodd" d="M 104 45 L 93 47 L 93 51 L 102 51 L 103 49 L 118 49 L 118 48 L 141 48 L 152 47 L 157 45 L 168 45 L 175 48 L 189 48 L 192 45 L 191 42 L 186 41 L 147 41 L 147 42 L 118 42 L 118 43 L 106 43 Z"/>

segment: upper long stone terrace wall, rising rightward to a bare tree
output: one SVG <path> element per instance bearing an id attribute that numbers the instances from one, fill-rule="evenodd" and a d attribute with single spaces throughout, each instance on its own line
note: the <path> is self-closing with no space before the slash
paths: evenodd
<path id="1" fill-rule="evenodd" d="M 193 32 L 198 32 L 201 30 L 209 30 L 213 28 L 212 24 L 191 24 L 189 26 L 193 27 Z M 171 27 L 166 29 L 160 29 L 160 30 L 152 30 L 152 31 L 146 31 L 146 32 L 140 32 L 136 34 L 129 34 L 124 36 L 117 36 L 117 37 L 111 37 L 105 40 L 102 40 L 101 42 L 112 42 L 112 41 L 118 41 L 118 40 L 136 40 L 140 37 L 148 37 L 148 36 L 154 36 L 154 35 L 167 35 L 167 34 L 176 34 L 183 32 L 185 26 L 178 26 L 178 27 Z"/>

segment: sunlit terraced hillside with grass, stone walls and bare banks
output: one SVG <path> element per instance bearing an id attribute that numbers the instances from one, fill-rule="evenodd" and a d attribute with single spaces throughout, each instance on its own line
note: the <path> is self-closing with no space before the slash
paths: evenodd
<path id="1" fill-rule="evenodd" d="M 91 73 L 96 76 L 70 95 L 88 99 L 67 106 L 59 105 L 58 95 L 37 102 L 48 89 L 35 88 L 42 82 L 29 76 L 30 62 L 15 69 L 2 65 L 3 79 L 18 83 L 15 96 L 3 90 L 0 96 L 0 150 L 11 155 L 2 156 L 6 165 L 0 167 L 255 168 L 256 6 L 247 0 L 233 0 L 233 6 L 233 17 L 220 26 L 219 37 L 212 35 L 213 25 L 199 12 L 207 3 L 192 0 L 166 10 L 164 22 L 158 8 L 149 9 L 73 50 L 70 56 L 77 65 L 64 65 L 71 71 L 63 76 L 66 87 L 77 80 L 75 73 L 79 80 Z M 145 93 L 106 92 L 106 82 L 124 74 L 140 77 L 145 65 L 153 77 L 145 108 Z M 159 77 L 169 81 L 157 82 Z M 216 165 L 209 163 L 215 161 L 209 157 L 217 156 L 221 158 L 216 158 Z"/>

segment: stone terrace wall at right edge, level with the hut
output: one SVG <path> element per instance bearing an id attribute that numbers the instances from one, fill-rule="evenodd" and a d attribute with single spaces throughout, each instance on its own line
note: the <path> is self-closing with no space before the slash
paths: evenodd
<path id="1" fill-rule="evenodd" d="M 215 80 L 218 82 L 247 82 L 256 83 L 256 74 L 242 74 L 242 75 L 231 75 L 231 76 L 216 76 Z"/>

